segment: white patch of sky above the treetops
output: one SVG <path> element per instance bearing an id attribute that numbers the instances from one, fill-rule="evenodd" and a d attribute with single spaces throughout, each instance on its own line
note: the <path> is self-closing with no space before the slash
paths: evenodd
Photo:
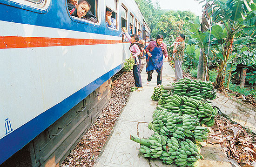
<path id="1" fill-rule="evenodd" d="M 161 9 L 191 11 L 197 16 L 202 15 L 202 5 L 204 5 L 195 0 L 159 0 L 159 2 Z"/>

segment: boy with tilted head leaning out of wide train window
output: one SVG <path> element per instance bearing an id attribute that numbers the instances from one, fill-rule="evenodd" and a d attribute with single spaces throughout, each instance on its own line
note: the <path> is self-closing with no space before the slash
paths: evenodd
<path id="1" fill-rule="evenodd" d="M 78 0 L 77 6 L 72 3 L 67 4 L 69 14 L 71 16 L 79 17 L 84 20 L 92 21 L 96 23 L 97 17 L 90 11 L 91 5 L 86 0 Z"/>

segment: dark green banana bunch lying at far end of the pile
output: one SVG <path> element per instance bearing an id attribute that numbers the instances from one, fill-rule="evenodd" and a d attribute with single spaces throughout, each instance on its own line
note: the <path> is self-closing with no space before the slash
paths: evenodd
<path id="1" fill-rule="evenodd" d="M 189 78 L 180 79 L 174 85 L 174 93 L 180 96 L 201 95 L 203 99 L 216 99 L 216 90 L 213 90 L 213 85 L 210 81 L 190 80 Z"/>

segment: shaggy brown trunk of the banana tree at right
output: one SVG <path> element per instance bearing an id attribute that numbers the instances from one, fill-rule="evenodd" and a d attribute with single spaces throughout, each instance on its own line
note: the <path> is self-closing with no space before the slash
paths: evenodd
<path id="1" fill-rule="evenodd" d="M 232 52 L 233 39 L 234 39 L 234 35 L 232 33 L 228 34 L 227 40 L 224 45 L 224 52 L 222 53 L 224 60 L 222 60 L 221 62 L 221 65 L 220 65 L 221 67 L 219 67 L 216 82 L 214 83 L 214 87 L 219 90 L 222 90 L 224 87 L 223 84 L 225 82 L 225 72 L 227 67 L 226 62 L 229 60 L 229 53 Z"/>

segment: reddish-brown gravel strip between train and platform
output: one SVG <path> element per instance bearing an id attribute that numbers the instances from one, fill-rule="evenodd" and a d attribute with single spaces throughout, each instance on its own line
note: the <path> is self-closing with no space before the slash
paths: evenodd
<path id="1" fill-rule="evenodd" d="M 141 70 L 146 60 L 141 61 Z M 67 156 L 61 167 L 92 167 L 97 159 L 121 110 L 130 96 L 130 87 L 134 86 L 133 72 L 117 73 L 112 78 L 111 100 L 103 109 L 94 124 L 88 129 L 74 150 Z"/>

